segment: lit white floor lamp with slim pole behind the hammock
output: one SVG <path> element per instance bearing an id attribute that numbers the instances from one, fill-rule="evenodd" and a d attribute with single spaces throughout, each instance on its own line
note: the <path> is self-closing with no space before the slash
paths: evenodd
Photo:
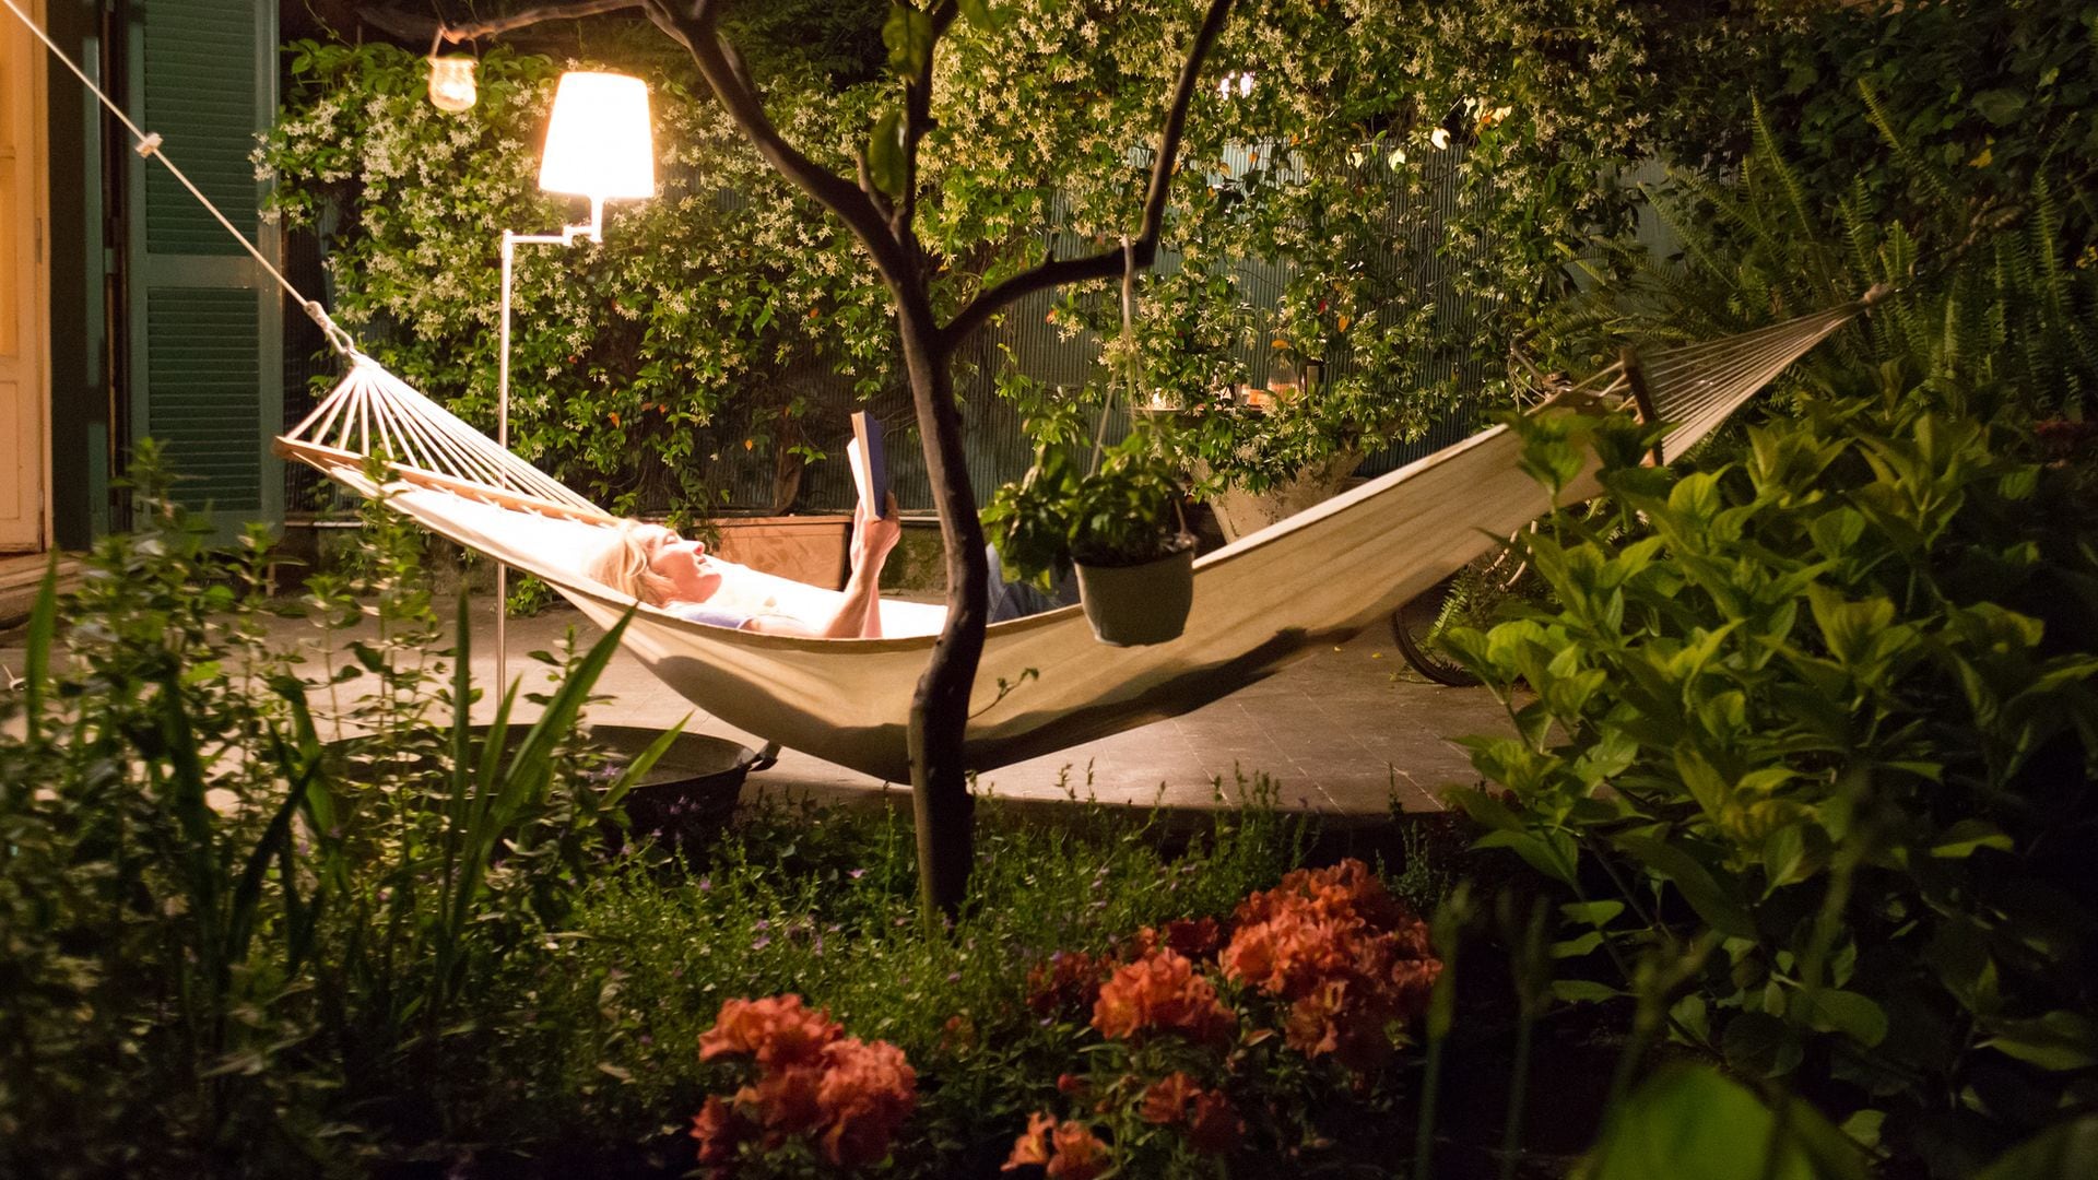
<path id="1" fill-rule="evenodd" d="M 590 220 L 560 233 L 504 231 L 501 359 L 495 367 L 495 443 L 510 449 L 510 275 L 518 244 L 604 241 L 604 202 L 655 195 L 655 139 L 648 84 L 623 73 L 569 71 L 554 90 L 554 115 L 539 153 L 539 189 L 590 197 Z M 495 687 L 510 687 L 510 567 L 495 565 Z"/>

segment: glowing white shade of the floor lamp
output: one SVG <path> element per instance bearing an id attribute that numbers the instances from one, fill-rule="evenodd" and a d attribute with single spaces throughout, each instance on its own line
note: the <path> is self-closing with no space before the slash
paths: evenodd
<path id="1" fill-rule="evenodd" d="M 594 199 L 652 197 L 648 84 L 625 73 L 562 73 L 539 153 L 539 187 Z"/>

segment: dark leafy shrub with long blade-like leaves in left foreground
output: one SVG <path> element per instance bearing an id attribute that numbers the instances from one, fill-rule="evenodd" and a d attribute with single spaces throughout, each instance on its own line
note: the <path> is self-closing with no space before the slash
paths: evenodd
<path id="1" fill-rule="evenodd" d="M 514 747 L 501 722 L 480 741 L 405 525 L 315 582 L 329 663 L 302 680 L 266 535 L 212 550 L 151 445 L 132 481 L 136 531 L 63 605 L 46 588 L 0 701 L 23 720 L 0 735 L 0 1170 L 355 1174 L 430 1134 L 470 997 L 598 859 L 627 779 L 587 773 L 573 722 L 613 640 Z M 323 745 L 317 708 L 355 737 Z"/>

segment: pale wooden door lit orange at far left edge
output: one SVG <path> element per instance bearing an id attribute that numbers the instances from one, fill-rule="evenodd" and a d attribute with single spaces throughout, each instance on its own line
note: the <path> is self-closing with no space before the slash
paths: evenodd
<path id="1" fill-rule="evenodd" d="M 17 0 L 27 8 L 29 19 L 42 25 L 44 21 L 44 0 Z M 6 107 L 10 111 L 8 128 L 0 128 L 0 143 L 13 147 L 13 160 L 0 162 L 0 168 L 10 168 L 15 172 L 15 193 L 19 197 L 19 208 L 15 210 L 15 223 L 0 227 L 0 233 L 13 237 L 15 265 L 8 275 L 0 275 L 0 283 L 8 283 L 21 296 L 21 304 L 15 313 L 17 330 L 17 395 L 23 405 L 17 405 L 17 414 L 27 428 L 27 439 L 17 439 L 15 454 L 6 456 L 6 464 L 13 466 L 21 462 L 23 451 L 27 460 L 36 464 L 34 479 L 23 481 L 25 491 L 34 498 L 34 517 L 21 531 L 0 533 L 0 552 L 19 550 L 46 550 L 50 548 L 50 498 L 52 498 L 52 470 L 50 470 L 50 149 L 46 143 L 46 69 L 44 69 L 44 46 L 13 17 L 0 15 L 0 59 L 6 63 Z M 25 472 L 8 472 L 6 479 L 19 479 Z"/>

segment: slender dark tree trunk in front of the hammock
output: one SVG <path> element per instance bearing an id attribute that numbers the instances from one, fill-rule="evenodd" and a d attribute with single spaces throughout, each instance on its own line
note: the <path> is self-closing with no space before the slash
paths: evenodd
<path id="1" fill-rule="evenodd" d="M 925 468 L 940 510 L 946 544 L 946 624 L 911 699 L 911 804 L 917 819 L 919 901 L 927 920 L 938 909 L 961 909 L 976 859 L 969 775 L 963 737 L 969 729 L 969 691 L 984 655 L 990 567 L 984 561 L 984 525 L 976 519 L 976 491 L 961 441 L 961 412 L 948 351 L 934 323 L 932 302 L 919 290 L 896 290 L 898 336 L 911 374 L 911 401 L 925 439 Z"/>

